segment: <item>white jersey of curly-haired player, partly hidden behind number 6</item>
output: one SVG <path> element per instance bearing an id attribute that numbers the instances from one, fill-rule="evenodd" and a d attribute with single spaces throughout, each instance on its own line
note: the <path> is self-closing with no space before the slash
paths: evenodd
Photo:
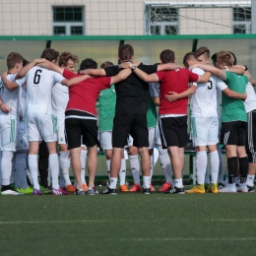
<path id="1" fill-rule="evenodd" d="M 69 101 L 69 88 L 57 83 L 52 88 L 51 96 L 54 115 L 64 116 Z"/>

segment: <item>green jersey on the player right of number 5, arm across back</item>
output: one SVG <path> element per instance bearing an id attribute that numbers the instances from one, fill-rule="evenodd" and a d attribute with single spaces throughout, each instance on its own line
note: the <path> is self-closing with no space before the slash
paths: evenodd
<path id="1" fill-rule="evenodd" d="M 226 79 L 224 83 L 227 87 L 236 93 L 244 94 L 248 78 L 246 76 L 238 76 L 228 71 L 226 71 L 225 74 Z M 232 121 L 247 122 L 244 100 L 231 98 L 223 94 L 222 122 Z"/>

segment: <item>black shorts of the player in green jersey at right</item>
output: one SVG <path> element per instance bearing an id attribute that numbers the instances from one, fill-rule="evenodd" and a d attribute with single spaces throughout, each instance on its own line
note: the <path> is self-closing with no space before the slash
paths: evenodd
<path id="1" fill-rule="evenodd" d="M 221 144 L 245 146 L 247 136 L 247 122 L 222 122 Z"/>

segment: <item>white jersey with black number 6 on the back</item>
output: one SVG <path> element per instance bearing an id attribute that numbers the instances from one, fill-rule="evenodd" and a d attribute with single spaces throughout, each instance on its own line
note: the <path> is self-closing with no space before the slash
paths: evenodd
<path id="1" fill-rule="evenodd" d="M 53 114 L 51 103 L 51 90 L 56 83 L 61 83 L 64 78 L 53 71 L 32 67 L 24 79 L 17 80 L 19 84 L 27 82 L 27 110 L 30 113 Z"/>

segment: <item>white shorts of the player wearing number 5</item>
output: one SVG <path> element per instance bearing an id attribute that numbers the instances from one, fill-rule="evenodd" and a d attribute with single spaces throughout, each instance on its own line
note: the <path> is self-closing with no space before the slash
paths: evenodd
<path id="1" fill-rule="evenodd" d="M 191 117 L 191 139 L 194 147 L 219 143 L 219 118 Z"/>

